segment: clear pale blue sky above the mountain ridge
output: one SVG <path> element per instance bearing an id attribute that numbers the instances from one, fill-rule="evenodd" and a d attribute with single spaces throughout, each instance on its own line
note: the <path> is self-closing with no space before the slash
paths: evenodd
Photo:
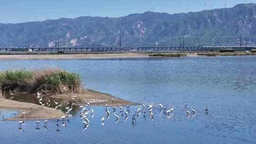
<path id="1" fill-rule="evenodd" d="M 120 17 L 145 11 L 180 13 L 233 7 L 256 0 L 0 0 L 0 23 L 80 16 Z"/>

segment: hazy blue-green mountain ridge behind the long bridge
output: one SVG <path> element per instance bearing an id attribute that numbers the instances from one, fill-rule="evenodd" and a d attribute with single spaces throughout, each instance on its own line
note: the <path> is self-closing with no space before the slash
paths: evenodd
<path id="1" fill-rule="evenodd" d="M 181 37 L 185 38 L 185 45 L 237 45 L 239 36 L 248 36 L 248 45 L 253 45 L 255 24 L 253 3 L 179 14 L 147 11 L 120 18 L 0 23 L 0 46 L 54 47 L 55 37 L 59 38 L 60 46 L 119 45 L 120 39 L 121 45 L 180 45 Z"/>

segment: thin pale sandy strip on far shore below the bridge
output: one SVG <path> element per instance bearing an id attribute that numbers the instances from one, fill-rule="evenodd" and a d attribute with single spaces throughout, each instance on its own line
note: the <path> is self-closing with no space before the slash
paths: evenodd
<path id="1" fill-rule="evenodd" d="M 0 60 L 40 60 L 40 59 L 105 59 L 105 58 L 143 58 L 148 54 L 17 54 L 0 55 Z"/>

